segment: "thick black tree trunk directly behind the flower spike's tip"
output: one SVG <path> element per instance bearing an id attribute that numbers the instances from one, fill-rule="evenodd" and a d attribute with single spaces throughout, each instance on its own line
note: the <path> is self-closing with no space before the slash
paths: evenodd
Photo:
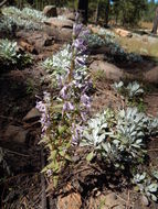
<path id="1" fill-rule="evenodd" d="M 87 23 L 88 0 L 78 0 L 78 12 L 82 14 L 83 23 Z"/>

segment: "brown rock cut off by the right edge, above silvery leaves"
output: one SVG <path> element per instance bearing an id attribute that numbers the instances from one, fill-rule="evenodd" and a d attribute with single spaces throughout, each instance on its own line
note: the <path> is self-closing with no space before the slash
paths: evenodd
<path id="1" fill-rule="evenodd" d="M 148 82 L 158 84 L 158 66 L 146 72 L 144 74 L 144 79 Z"/>

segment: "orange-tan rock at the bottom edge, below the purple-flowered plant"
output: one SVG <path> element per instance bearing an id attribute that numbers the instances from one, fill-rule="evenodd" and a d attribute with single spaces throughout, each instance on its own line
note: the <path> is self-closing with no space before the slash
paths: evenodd
<path id="1" fill-rule="evenodd" d="M 65 189 L 65 188 L 63 188 Z M 70 185 L 66 186 L 65 196 L 57 198 L 57 208 L 60 209 L 80 209 L 82 206 L 82 198 L 78 193 L 74 193 Z"/>

